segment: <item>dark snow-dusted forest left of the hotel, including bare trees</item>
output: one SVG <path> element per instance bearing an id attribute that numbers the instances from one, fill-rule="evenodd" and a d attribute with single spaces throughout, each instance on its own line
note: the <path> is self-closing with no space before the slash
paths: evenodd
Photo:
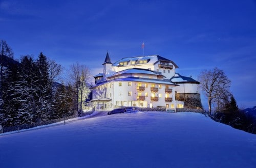
<path id="1" fill-rule="evenodd" d="M 73 67 L 78 69 L 77 79 L 65 86 L 56 82 L 62 69 L 55 61 L 42 52 L 37 59 L 24 55 L 14 61 L 12 49 L 1 40 L 0 125 L 18 126 L 78 114 L 89 93 L 90 71 L 79 64 Z"/>

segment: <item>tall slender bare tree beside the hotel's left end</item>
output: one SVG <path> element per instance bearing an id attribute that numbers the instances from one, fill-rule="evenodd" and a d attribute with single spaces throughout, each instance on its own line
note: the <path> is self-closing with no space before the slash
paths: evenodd
<path id="1" fill-rule="evenodd" d="M 70 66 L 68 72 L 69 80 L 75 88 L 76 91 L 76 110 L 77 113 L 82 109 L 82 102 L 88 95 L 88 85 L 89 78 L 91 77 L 90 69 L 86 65 L 81 65 L 75 63 Z"/>

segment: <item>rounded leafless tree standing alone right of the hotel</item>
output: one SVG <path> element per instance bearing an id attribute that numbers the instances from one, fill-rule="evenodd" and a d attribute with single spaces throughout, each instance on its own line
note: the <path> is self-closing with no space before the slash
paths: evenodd
<path id="1" fill-rule="evenodd" d="M 208 98 L 209 112 L 213 101 L 217 102 L 217 108 L 220 106 L 220 98 L 229 94 L 231 81 L 225 72 L 215 67 L 212 70 L 202 71 L 198 77 L 200 87 L 205 96 Z"/>

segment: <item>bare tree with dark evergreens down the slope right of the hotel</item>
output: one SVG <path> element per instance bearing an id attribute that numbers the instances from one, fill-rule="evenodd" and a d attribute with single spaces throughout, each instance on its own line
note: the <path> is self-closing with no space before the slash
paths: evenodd
<path id="1" fill-rule="evenodd" d="M 239 109 L 229 88 L 231 81 L 219 68 L 204 70 L 198 77 L 202 93 L 207 97 L 209 116 L 218 122 L 250 133 L 256 133 L 256 122 Z M 214 110 L 212 110 L 214 106 Z"/>

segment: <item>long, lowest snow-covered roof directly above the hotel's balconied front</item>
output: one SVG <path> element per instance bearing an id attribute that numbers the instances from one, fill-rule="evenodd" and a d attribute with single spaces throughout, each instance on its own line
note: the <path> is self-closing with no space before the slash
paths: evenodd
<path id="1" fill-rule="evenodd" d="M 105 83 L 115 82 L 115 81 L 138 81 L 138 82 L 146 82 L 146 83 L 159 83 L 163 85 L 175 85 L 175 83 L 167 79 L 153 79 L 153 78 L 150 79 L 150 78 L 131 76 L 131 77 L 117 78 L 117 79 L 107 80 L 107 81 L 105 80 L 103 82 L 97 83 L 97 85 L 93 86 L 92 88 L 100 85 L 104 85 Z"/>

